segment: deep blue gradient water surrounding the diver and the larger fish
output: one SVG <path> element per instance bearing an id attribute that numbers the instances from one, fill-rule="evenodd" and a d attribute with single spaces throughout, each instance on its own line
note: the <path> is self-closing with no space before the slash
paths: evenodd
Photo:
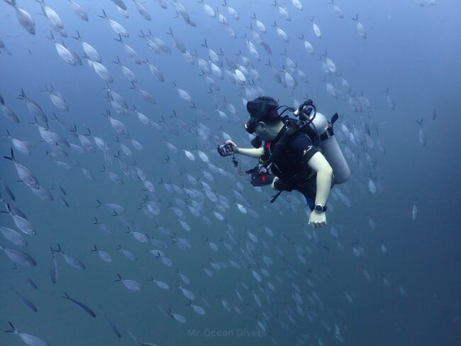
<path id="1" fill-rule="evenodd" d="M 140 16 L 134 1 L 125 1 L 129 18 L 109 0 L 77 2 L 87 11 L 88 22 L 74 13 L 69 1 L 46 1 L 62 19 L 67 38 L 56 31 L 53 35 L 82 57 L 82 45 L 71 38 L 78 30 L 98 51 L 113 77 L 111 90 L 128 104 L 126 114 L 108 102 L 106 82 L 87 60 L 82 58 L 82 65 L 72 66 L 57 54 L 55 44 L 46 38 L 52 28 L 48 18 L 38 14 L 38 2 L 18 2 L 33 17 L 35 36 L 21 27 L 12 6 L 0 4 L 0 40 L 5 45 L 0 48 L 0 95 L 5 107 L 20 119 L 16 123 L 0 117 L 0 132 L 9 130 L 13 138 L 31 144 L 30 156 L 13 148 L 16 160 L 33 171 L 53 198 L 44 200 L 18 182 L 14 164 L 2 159 L 0 177 L 14 200 L 1 188 L 5 205 L 0 208 L 6 211 L 9 204 L 21 210 L 37 234 L 24 234 L 11 215 L 0 215 L 2 227 L 16 229 L 28 242 L 20 246 L 6 238 L 0 240 L 6 248 L 0 253 L 1 328 L 9 330 L 11 321 L 19 332 L 37 335 L 49 345 L 130 345 L 135 342 L 130 333 L 148 343 L 143 345 L 460 345 L 458 1 L 438 0 L 435 6 L 418 6 L 414 0 L 335 1 L 344 18 L 338 17 L 328 1 L 300 0 L 302 11 L 291 1 L 277 1 L 288 11 L 290 21 L 270 1 L 229 0 L 238 20 L 221 1 L 207 1 L 226 17 L 235 38 L 218 16 L 207 15 L 197 1 L 181 2 L 196 26 L 182 16 L 175 18 L 179 5 L 175 7 L 173 1 L 167 2 L 167 9 L 156 1 L 143 3 L 151 21 Z M 99 17 L 102 9 L 126 28 L 129 37 L 123 42 L 143 63 L 137 65 L 114 40 L 118 35 Z M 270 54 L 252 36 L 250 23 L 257 30 L 251 18 L 254 14 L 265 24 L 267 33 L 260 36 L 270 46 Z M 367 30 L 366 39 L 351 19 L 356 14 Z M 321 28 L 321 38 L 313 32 L 312 17 Z M 274 21 L 287 33 L 288 42 L 277 36 L 271 26 Z M 167 35 L 170 28 L 193 55 L 194 64 L 174 46 Z M 170 54 L 149 49 L 140 37 L 141 31 L 148 33 L 149 29 L 152 36 L 165 41 Z M 313 55 L 304 49 L 301 33 L 313 45 Z M 259 60 L 250 53 L 245 35 Z M 211 66 L 204 40 L 216 53 L 222 50 L 240 64 L 231 67 L 218 55 L 222 65 L 216 66 L 222 73 L 228 70 L 235 75 L 235 68 L 248 72 L 244 85 L 205 71 L 219 87 L 210 93 L 196 56 Z M 293 70 L 287 67 L 297 81 L 294 88 L 287 86 L 281 72 L 287 63 L 282 55 L 285 49 L 296 63 Z M 324 70 L 325 52 L 335 72 L 328 67 Z M 136 86 L 155 97 L 155 104 L 130 89 L 131 83 L 113 63 L 116 56 L 134 72 Z M 146 58 L 162 72 L 163 82 L 152 75 Z M 307 81 L 297 70 L 304 72 Z M 350 91 L 343 87 L 340 72 L 350 83 Z M 281 76 L 279 82 L 274 73 Z M 201 112 L 180 97 L 172 87 L 174 82 L 189 93 Z M 336 97 L 326 89 L 327 82 Z M 68 112 L 52 104 L 44 93 L 45 85 L 64 95 Z M 43 109 L 50 131 L 82 146 L 77 136 L 52 120 L 55 113 L 66 124 L 75 125 L 79 134 L 88 134 L 90 129 L 106 141 L 106 148 L 98 148 L 91 136 L 85 137 L 95 152 L 77 153 L 45 142 L 38 128 L 28 124 L 34 122 L 34 115 L 26 102 L 17 99 L 21 88 Z M 394 109 L 383 92 L 387 88 Z M 230 158 L 216 153 L 216 146 L 227 136 L 240 147 L 250 147 L 242 126 L 248 119 L 243 101 L 261 94 L 294 106 L 309 96 L 327 117 L 340 114 L 335 131 L 352 176 L 331 191 L 328 225 L 322 229 L 307 225 L 309 209 L 302 195 L 282 193 L 270 204 L 270 187 L 253 188 L 248 177 L 238 175 Z M 235 107 L 235 114 L 226 102 Z M 138 119 L 133 105 L 152 121 L 151 126 Z M 113 119 L 122 121 L 126 131 L 117 133 L 102 115 L 106 109 Z M 226 117 L 220 117 L 217 109 Z M 416 123 L 421 118 L 427 138 L 424 146 Z M 44 121 L 38 124 L 47 126 Z M 143 149 L 136 150 L 130 139 L 139 141 Z M 130 149 L 130 156 L 120 143 Z M 1 155 L 10 156 L 13 145 L 7 136 L 1 137 L 0 146 Z M 114 156 L 126 163 L 128 175 Z M 237 158 L 243 169 L 256 164 L 254 159 Z M 77 161 L 91 171 L 94 180 L 82 174 Z M 121 177 L 123 185 L 101 172 L 103 165 Z M 152 191 L 142 180 L 152 183 Z M 113 215 L 110 208 L 97 207 L 96 200 L 116 203 L 124 211 Z M 154 209 L 148 209 L 148 201 Z M 417 207 L 415 217 L 413 205 Z M 101 232 L 94 217 L 108 225 L 111 234 Z M 140 234 L 135 239 L 133 232 L 150 239 L 140 242 Z M 184 239 L 191 247 L 180 246 Z M 50 247 L 57 249 L 57 244 L 86 269 L 74 269 L 56 253 L 58 275 L 52 283 Z M 119 244 L 138 260 L 123 256 L 117 250 Z M 108 252 L 112 261 L 107 263 L 91 252 L 94 245 Z M 7 256 L 10 249 L 30 254 L 37 265 L 21 266 L 16 258 L 15 270 L 15 262 Z M 181 281 L 177 269 L 190 283 Z M 138 282 L 141 291 L 114 282 L 117 273 Z M 162 290 L 150 276 L 170 288 Z M 203 308 L 204 315 L 188 306 L 190 297 L 177 288 L 179 281 L 194 293 L 191 303 Z M 96 317 L 62 298 L 64 291 L 91 308 Z M 38 311 L 31 310 L 21 296 Z M 100 307 L 121 338 L 113 333 Z M 24 342 L 18 335 L 1 333 L 0 345 Z"/>

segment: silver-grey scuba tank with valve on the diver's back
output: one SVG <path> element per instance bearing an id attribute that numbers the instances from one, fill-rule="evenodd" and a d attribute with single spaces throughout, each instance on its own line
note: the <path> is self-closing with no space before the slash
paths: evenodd
<path id="1" fill-rule="evenodd" d="M 317 112 L 316 107 L 313 106 L 310 99 L 301 104 L 297 111 L 294 114 L 299 115 L 299 119 L 306 121 L 306 124 L 309 125 L 310 132 L 314 134 L 309 134 L 311 137 L 314 137 L 311 138 L 313 144 L 320 148 L 321 153 L 325 156 L 328 163 L 330 163 L 331 168 L 333 168 L 334 183 L 345 183 L 350 177 L 350 168 L 345 161 L 343 152 L 338 141 L 335 139 L 335 132 L 333 131 L 333 124 L 338 120 L 338 113 L 335 113 L 331 121 L 328 121 L 323 114 Z"/>

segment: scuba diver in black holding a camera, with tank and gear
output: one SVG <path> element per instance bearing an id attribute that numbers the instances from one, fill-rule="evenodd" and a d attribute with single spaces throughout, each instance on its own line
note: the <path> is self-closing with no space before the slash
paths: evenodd
<path id="1" fill-rule="evenodd" d="M 284 110 L 279 114 L 281 108 Z M 218 153 L 233 155 L 235 167 L 238 167 L 235 153 L 258 158 L 257 166 L 246 171 L 252 185 L 272 185 L 278 192 L 271 202 L 283 191 L 299 191 L 311 209 L 309 225 L 325 226 L 330 190 L 335 183 L 344 183 L 350 176 L 348 164 L 334 137 L 333 124 L 338 114 L 333 115 L 330 122 L 317 112 L 311 99 L 294 109 L 279 107 L 277 101 L 268 96 L 249 101 L 247 110 L 250 119 L 245 129 L 257 135 L 251 141 L 254 148 L 239 148 L 233 141 L 226 141 L 218 146 Z M 287 110 L 299 119 L 283 116 Z"/>

